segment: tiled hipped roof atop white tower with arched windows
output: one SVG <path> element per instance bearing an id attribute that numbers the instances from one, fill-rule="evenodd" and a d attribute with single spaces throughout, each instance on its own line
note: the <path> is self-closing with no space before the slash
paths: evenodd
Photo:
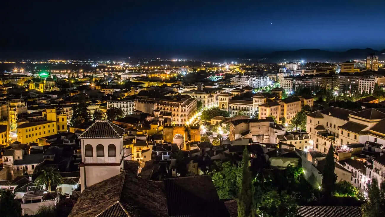
<path id="1" fill-rule="evenodd" d="M 124 135 L 124 129 L 109 122 L 95 121 L 80 138 L 121 138 Z"/>

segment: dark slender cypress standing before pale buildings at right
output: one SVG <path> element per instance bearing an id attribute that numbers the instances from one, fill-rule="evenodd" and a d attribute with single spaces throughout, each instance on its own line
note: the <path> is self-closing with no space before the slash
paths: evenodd
<path id="1" fill-rule="evenodd" d="M 334 148 L 333 144 L 330 144 L 328 153 L 325 158 L 325 168 L 322 171 L 322 190 L 325 199 L 332 196 L 332 192 L 335 189 L 335 183 L 337 181 L 337 175 L 334 173 Z"/>

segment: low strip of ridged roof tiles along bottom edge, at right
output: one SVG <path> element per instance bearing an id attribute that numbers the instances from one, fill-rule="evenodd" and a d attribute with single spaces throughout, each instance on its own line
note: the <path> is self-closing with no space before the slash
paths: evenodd
<path id="1" fill-rule="evenodd" d="M 361 217 L 361 207 L 298 207 L 302 217 Z"/>

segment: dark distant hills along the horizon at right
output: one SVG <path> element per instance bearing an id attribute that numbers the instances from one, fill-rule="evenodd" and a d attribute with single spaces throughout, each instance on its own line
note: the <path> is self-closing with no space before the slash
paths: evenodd
<path id="1" fill-rule="evenodd" d="M 263 62 L 281 62 L 303 59 L 308 62 L 314 61 L 348 61 L 353 59 L 365 59 L 368 54 L 376 53 L 380 60 L 385 59 L 385 49 L 373 50 L 367 49 L 350 49 L 343 52 L 335 52 L 320 49 L 301 49 L 301 50 L 284 50 L 276 51 L 270 54 L 258 55 L 263 58 Z"/>

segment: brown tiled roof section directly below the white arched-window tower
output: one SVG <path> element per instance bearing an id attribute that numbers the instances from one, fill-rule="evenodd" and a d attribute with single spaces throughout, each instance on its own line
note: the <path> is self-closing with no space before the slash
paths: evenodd
<path id="1" fill-rule="evenodd" d="M 69 216 L 168 216 L 164 183 L 127 173 L 87 187 Z"/>

